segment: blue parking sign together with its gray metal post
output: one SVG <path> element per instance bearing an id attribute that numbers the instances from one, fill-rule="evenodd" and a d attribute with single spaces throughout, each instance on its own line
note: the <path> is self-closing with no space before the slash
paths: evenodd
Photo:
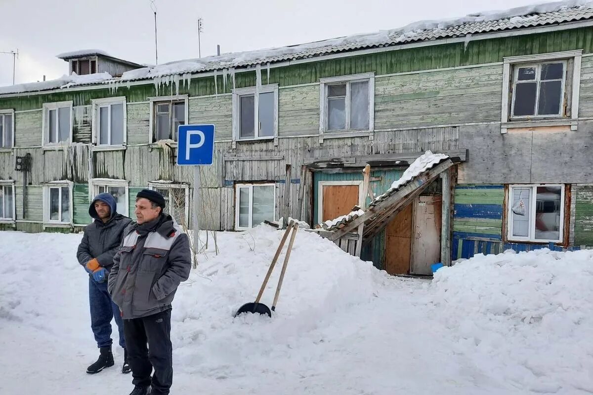
<path id="1" fill-rule="evenodd" d="M 193 170 L 193 246 L 197 264 L 200 226 L 200 168 L 211 166 L 214 162 L 214 125 L 181 125 L 177 131 L 177 165 L 195 166 Z"/>

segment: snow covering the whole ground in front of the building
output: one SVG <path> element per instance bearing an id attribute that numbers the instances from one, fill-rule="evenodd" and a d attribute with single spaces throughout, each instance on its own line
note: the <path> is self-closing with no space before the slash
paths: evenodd
<path id="1" fill-rule="evenodd" d="M 593 393 L 593 251 L 478 256 L 430 282 L 299 230 L 272 319 L 234 319 L 281 236 L 220 233 L 220 255 L 181 285 L 173 394 Z M 98 351 L 80 238 L 0 232 L 0 394 L 132 389 L 120 349 L 116 367 L 85 373 Z"/>

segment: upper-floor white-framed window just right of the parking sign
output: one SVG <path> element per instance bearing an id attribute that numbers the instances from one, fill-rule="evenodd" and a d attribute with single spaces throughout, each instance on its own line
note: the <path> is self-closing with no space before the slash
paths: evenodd
<path id="1" fill-rule="evenodd" d="M 278 85 L 235 89 L 232 95 L 235 140 L 273 139 L 278 134 Z"/>

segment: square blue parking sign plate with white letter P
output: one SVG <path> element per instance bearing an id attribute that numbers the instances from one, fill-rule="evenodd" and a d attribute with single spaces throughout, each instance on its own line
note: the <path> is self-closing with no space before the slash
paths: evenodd
<path id="1" fill-rule="evenodd" d="M 181 125 L 177 132 L 177 165 L 212 165 L 214 125 Z"/>

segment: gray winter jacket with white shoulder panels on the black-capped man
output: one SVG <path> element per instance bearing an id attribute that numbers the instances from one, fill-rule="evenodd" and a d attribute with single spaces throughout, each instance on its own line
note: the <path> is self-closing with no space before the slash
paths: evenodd
<path id="1" fill-rule="evenodd" d="M 134 223 L 113 262 L 107 289 L 123 319 L 156 314 L 170 309 L 177 287 L 189 277 L 189 239 L 166 214 L 148 233 Z"/>

